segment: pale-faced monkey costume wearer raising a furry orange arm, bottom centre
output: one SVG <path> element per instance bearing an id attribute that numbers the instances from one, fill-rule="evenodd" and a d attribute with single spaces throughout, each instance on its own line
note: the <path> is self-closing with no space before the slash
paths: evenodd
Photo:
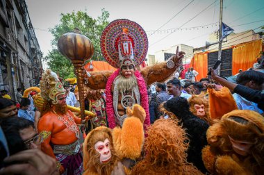
<path id="1" fill-rule="evenodd" d="M 98 126 L 88 133 L 83 142 L 83 175 L 129 174 L 141 155 L 146 113 L 138 104 L 127 108 L 126 113 L 122 128 Z"/>

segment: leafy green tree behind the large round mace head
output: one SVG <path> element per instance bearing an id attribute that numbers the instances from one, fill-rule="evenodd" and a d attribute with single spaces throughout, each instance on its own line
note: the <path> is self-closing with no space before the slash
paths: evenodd
<path id="1" fill-rule="evenodd" d="M 90 17 L 86 10 L 85 12 L 62 13 L 60 24 L 49 29 L 53 35 L 53 40 L 51 41 L 52 50 L 45 57 L 49 68 L 53 72 L 58 73 L 61 78 L 72 78 L 75 76 L 72 63 L 61 55 L 57 49 L 58 38 L 64 33 L 74 31 L 74 28 L 79 28 L 81 33 L 92 41 L 94 45 L 92 60 L 104 60 L 100 49 L 100 38 L 102 31 L 109 24 L 108 17 L 109 12 L 104 9 L 101 10 L 101 16 L 97 17 L 97 19 Z"/>

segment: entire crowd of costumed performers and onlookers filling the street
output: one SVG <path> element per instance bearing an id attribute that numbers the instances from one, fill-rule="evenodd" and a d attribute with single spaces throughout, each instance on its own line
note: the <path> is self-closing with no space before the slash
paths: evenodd
<path id="1" fill-rule="evenodd" d="M 79 117 L 72 88 L 49 69 L 39 88 L 17 89 L 19 106 L 2 93 L 0 174 L 263 173 L 264 74 L 252 69 L 231 82 L 210 69 L 197 82 L 190 68 L 181 79 L 178 48 L 139 69 L 147 44 L 134 27 L 127 19 L 106 27 L 102 35 L 122 49 L 101 38 L 101 50 L 117 70 L 90 72 L 83 92 L 74 90 L 93 115 Z M 134 55 L 132 46 L 142 49 Z"/>

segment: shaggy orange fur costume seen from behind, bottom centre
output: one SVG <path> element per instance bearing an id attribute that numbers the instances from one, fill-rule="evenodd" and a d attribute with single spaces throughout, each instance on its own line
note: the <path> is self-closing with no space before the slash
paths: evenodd
<path id="1" fill-rule="evenodd" d="M 146 156 L 133 167 L 131 174 L 201 174 L 187 163 L 186 133 L 172 119 L 158 119 L 147 131 Z"/>

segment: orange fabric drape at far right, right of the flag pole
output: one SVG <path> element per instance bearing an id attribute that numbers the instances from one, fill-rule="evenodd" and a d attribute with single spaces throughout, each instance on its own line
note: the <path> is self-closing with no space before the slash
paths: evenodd
<path id="1" fill-rule="evenodd" d="M 250 67 L 253 67 L 262 47 L 262 40 L 254 40 L 236 45 L 232 53 L 232 74 L 238 74 L 239 69 L 246 71 Z"/>

